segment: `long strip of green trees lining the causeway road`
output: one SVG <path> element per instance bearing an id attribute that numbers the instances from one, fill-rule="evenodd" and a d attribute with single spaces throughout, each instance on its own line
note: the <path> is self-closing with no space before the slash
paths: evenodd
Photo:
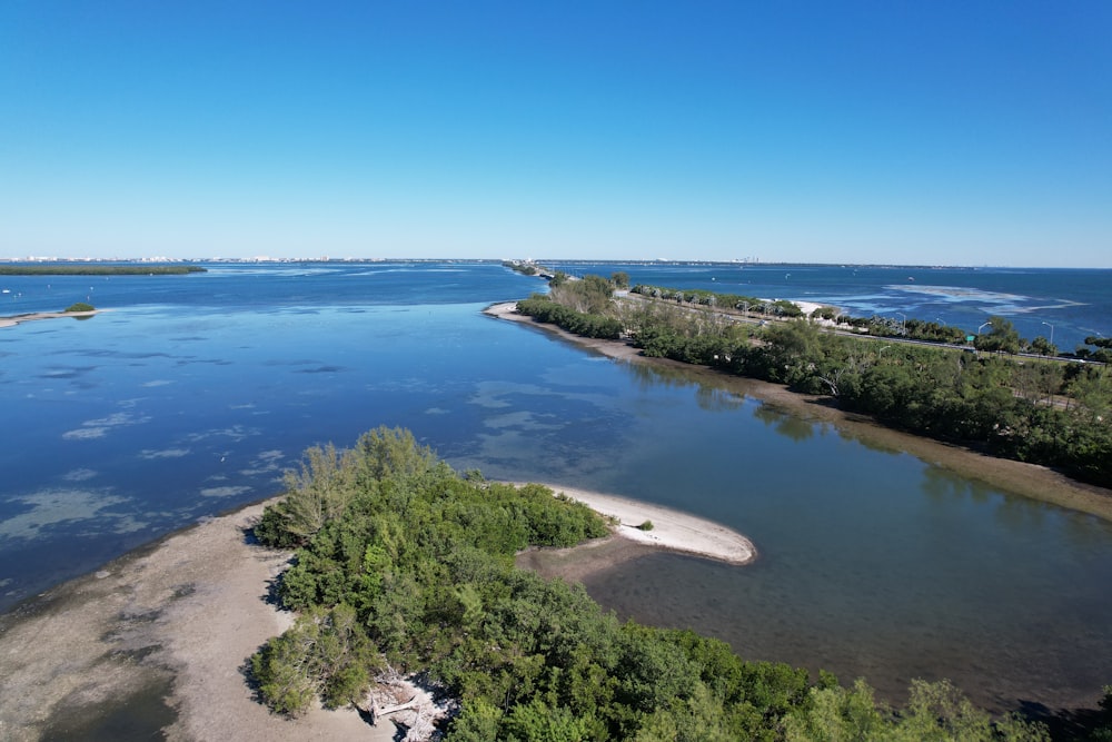
<path id="1" fill-rule="evenodd" d="M 634 286 L 616 299 L 627 280 L 556 274 L 548 294 L 517 308 L 578 335 L 627 338 L 646 356 L 824 395 L 898 429 L 1112 487 L 1106 338 L 1086 338 L 1091 347 L 1061 359 L 1004 317 L 965 343 L 964 330 L 935 323 L 842 317 L 832 307 L 804 316 L 791 303 L 705 290 Z"/>

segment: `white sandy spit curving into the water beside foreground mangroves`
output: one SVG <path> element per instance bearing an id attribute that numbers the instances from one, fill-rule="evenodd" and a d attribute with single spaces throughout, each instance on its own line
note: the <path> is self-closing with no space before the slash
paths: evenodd
<path id="1" fill-rule="evenodd" d="M 525 483 L 508 482 L 506 484 L 520 487 Z M 542 484 L 557 495 L 567 495 L 599 515 L 617 521 L 617 525 L 614 526 L 610 537 L 623 538 L 653 548 L 663 548 L 677 554 L 698 556 L 734 566 L 749 564 L 757 557 L 757 550 L 752 541 L 736 531 L 707 518 L 675 511 L 663 505 L 644 503 L 617 495 L 563 487 L 546 482 L 537 482 L 535 484 Z M 637 527 L 646 521 L 652 522 L 652 531 L 642 531 Z M 606 541 L 606 538 L 600 541 Z M 587 544 L 593 544 L 592 548 L 597 548 L 598 546 L 598 544 L 594 544 L 593 542 L 587 542 Z M 569 550 L 540 551 L 569 552 L 584 548 L 585 546 L 587 545 L 580 544 L 572 546 Z M 603 563 L 598 566 L 599 568 L 605 568 L 609 565 Z"/>

